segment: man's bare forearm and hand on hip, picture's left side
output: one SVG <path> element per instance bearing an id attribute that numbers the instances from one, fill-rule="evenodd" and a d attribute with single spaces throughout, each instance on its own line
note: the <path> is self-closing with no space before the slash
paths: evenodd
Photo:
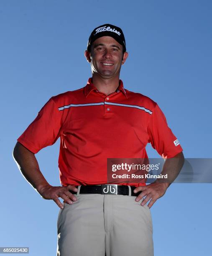
<path id="1" fill-rule="evenodd" d="M 56 204 L 63 208 L 59 197 L 61 197 L 65 202 L 72 204 L 77 198 L 69 192 L 69 190 L 77 192 L 77 188 L 68 185 L 67 187 L 53 187 L 46 179 L 43 177 L 38 165 L 38 161 L 31 151 L 25 148 L 19 142 L 16 143 L 13 150 L 13 157 L 23 174 L 25 179 L 33 186 L 34 189 L 43 197 L 44 199 L 52 199 Z"/>

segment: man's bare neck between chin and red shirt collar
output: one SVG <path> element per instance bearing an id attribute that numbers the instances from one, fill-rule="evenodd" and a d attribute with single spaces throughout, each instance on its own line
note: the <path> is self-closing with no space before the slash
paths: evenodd
<path id="1" fill-rule="evenodd" d="M 93 74 L 92 76 L 92 83 L 95 85 L 95 87 L 100 91 L 105 93 L 106 95 L 111 94 L 112 92 L 115 92 L 116 89 L 119 86 L 119 77 L 112 77 L 109 79 L 104 79 L 100 76 L 96 76 Z"/>

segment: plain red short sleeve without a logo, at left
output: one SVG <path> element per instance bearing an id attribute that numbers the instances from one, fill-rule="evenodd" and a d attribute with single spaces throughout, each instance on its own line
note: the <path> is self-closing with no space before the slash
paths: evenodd
<path id="1" fill-rule="evenodd" d="M 17 141 L 36 154 L 56 142 L 60 136 L 60 128 L 61 114 L 51 97 Z"/>

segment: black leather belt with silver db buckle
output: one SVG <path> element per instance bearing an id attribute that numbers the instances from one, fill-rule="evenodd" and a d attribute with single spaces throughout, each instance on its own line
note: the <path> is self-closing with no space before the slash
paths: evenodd
<path id="1" fill-rule="evenodd" d="M 131 196 L 137 197 L 141 193 L 140 191 L 135 194 L 133 190 L 136 187 L 133 187 L 133 186 L 130 186 L 130 187 L 131 187 Z M 77 194 L 77 192 L 72 192 L 72 194 Z M 79 194 L 129 195 L 129 187 L 125 185 L 116 185 L 116 184 L 81 186 Z"/>

